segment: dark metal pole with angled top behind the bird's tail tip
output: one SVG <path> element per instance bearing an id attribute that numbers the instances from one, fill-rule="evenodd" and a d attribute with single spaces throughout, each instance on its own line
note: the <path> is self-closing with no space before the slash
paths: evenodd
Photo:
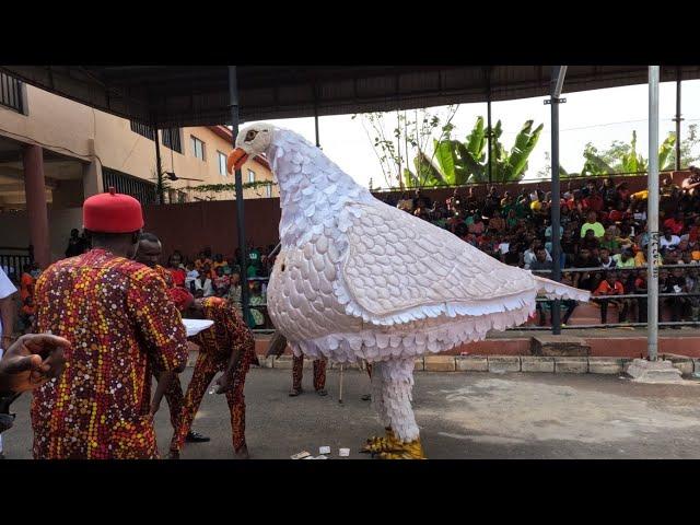
<path id="1" fill-rule="evenodd" d="M 561 228 L 559 187 L 559 104 L 565 102 L 560 98 L 563 79 L 567 73 L 565 66 L 553 66 L 551 69 L 551 91 L 549 104 L 551 106 L 551 258 L 552 279 L 561 281 L 561 244 L 559 229 Z M 546 101 L 547 102 L 547 101 Z M 551 310 L 551 332 L 561 334 L 561 308 L 559 300 L 555 300 Z"/>

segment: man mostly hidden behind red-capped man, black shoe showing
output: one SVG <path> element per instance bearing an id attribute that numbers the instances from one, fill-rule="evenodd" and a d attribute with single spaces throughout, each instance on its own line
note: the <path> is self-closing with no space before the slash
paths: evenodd
<path id="1" fill-rule="evenodd" d="M 187 298 L 183 296 L 182 293 L 176 292 L 177 290 L 182 290 L 190 298 L 191 295 L 184 289 L 175 288 L 173 275 L 159 264 L 161 261 L 163 245 L 161 244 L 161 240 L 152 233 L 142 232 L 139 236 L 139 247 L 136 253 L 136 260 L 137 262 L 141 262 L 142 265 L 145 265 L 149 268 L 153 269 L 161 277 L 161 279 L 163 279 L 171 299 L 173 299 L 175 305 L 177 306 L 178 301 L 180 304 L 187 301 Z M 177 310 L 183 312 L 184 308 L 178 307 Z M 163 372 L 156 362 L 151 363 L 151 370 L 155 377 L 159 377 Z M 167 408 L 171 412 L 171 424 L 173 425 L 173 432 L 176 432 L 177 428 L 179 427 L 179 418 L 183 413 L 183 404 L 185 402 L 185 396 L 183 395 L 183 387 L 179 383 L 179 377 L 175 376 L 170 382 L 170 385 L 165 390 L 165 400 L 167 401 Z M 199 432 L 189 432 L 187 434 L 186 441 L 189 443 L 203 443 L 209 441 L 209 438 L 200 434 Z"/>

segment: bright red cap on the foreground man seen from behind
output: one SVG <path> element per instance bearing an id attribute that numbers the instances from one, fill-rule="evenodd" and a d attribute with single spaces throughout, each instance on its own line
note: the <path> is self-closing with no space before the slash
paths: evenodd
<path id="1" fill-rule="evenodd" d="M 83 203 L 83 228 L 102 233 L 137 232 L 143 228 L 141 203 L 114 188 L 108 194 L 93 195 Z"/>

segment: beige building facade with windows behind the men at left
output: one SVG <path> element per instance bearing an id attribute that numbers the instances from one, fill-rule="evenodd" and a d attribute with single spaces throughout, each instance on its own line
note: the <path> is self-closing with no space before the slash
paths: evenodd
<path id="1" fill-rule="evenodd" d="M 82 228 L 83 200 L 112 186 L 158 202 L 156 138 L 165 203 L 235 198 L 194 189 L 234 183 L 228 127 L 154 131 L 0 73 L 0 265 L 28 257 L 30 246 L 42 267 L 62 257 L 70 230 Z M 265 159 L 248 160 L 242 172 L 244 183 L 260 183 L 244 198 L 279 197 Z"/>

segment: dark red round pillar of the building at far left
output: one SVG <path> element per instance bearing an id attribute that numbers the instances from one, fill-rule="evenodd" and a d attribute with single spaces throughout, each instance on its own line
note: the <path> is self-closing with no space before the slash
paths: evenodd
<path id="1" fill-rule="evenodd" d="M 48 241 L 48 212 L 46 209 L 46 185 L 44 180 L 44 151 L 40 145 L 22 147 L 24 163 L 24 192 L 30 220 L 30 242 L 34 246 L 34 260 L 42 268 L 51 262 Z"/>

